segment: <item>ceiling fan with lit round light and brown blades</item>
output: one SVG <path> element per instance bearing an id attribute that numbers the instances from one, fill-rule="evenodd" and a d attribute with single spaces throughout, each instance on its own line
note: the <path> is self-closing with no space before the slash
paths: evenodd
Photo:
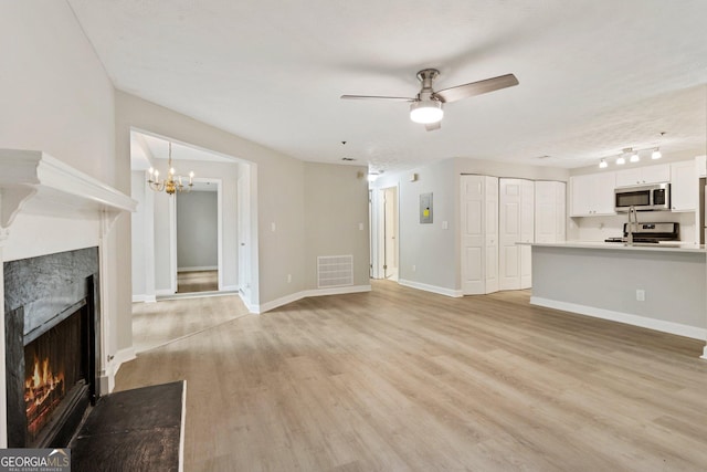
<path id="1" fill-rule="evenodd" d="M 418 80 L 422 83 L 422 88 L 414 98 L 376 95 L 341 95 L 341 98 L 410 102 L 410 119 L 425 125 L 425 129 L 432 132 L 442 126 L 443 104 L 518 85 L 518 80 L 514 74 L 506 74 L 435 92 L 432 90 L 432 82 L 439 75 L 440 71 L 436 69 L 424 69 L 418 72 Z"/>

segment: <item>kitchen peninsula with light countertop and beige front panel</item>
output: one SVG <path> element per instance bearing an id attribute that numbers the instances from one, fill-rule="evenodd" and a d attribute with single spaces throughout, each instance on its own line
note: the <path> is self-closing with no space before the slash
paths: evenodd
<path id="1" fill-rule="evenodd" d="M 529 245 L 530 303 L 707 339 L 704 245 L 580 241 Z"/>

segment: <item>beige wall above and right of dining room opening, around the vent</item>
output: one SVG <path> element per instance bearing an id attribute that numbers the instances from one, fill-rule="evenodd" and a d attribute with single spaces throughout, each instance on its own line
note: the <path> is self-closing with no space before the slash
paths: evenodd
<path id="1" fill-rule="evenodd" d="M 355 254 L 359 270 L 356 282 L 367 284 L 368 193 L 365 180 L 356 177 L 363 168 L 306 164 L 116 92 L 116 148 L 120 162 L 129 162 L 131 127 L 253 164 L 251 201 L 256 220 L 251 240 L 257 242 L 257 252 L 252 263 L 260 268 L 252 281 L 253 305 L 275 306 L 316 289 L 312 254 L 323 247 Z M 129 169 L 125 171 L 129 179 Z M 347 225 L 349 220 L 355 223 L 354 233 Z M 365 224 L 363 231 L 358 230 L 359 222 Z"/>

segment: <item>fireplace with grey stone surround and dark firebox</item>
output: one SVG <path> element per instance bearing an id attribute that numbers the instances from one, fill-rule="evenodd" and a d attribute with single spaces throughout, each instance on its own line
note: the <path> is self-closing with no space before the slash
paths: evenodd
<path id="1" fill-rule="evenodd" d="M 8 445 L 66 447 L 95 402 L 98 252 L 4 264 Z"/>

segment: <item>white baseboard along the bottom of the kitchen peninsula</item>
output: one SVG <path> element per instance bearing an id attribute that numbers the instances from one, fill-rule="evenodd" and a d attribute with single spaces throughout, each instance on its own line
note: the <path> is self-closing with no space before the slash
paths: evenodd
<path id="1" fill-rule="evenodd" d="M 579 313 L 580 315 L 593 316 L 595 318 L 609 319 L 612 322 L 625 323 L 627 325 L 640 326 L 643 328 L 659 331 L 663 333 L 690 337 L 693 339 L 704 340 L 705 338 L 707 338 L 707 329 L 705 328 L 666 322 L 663 319 L 648 318 L 646 316 L 614 312 L 612 310 L 595 308 L 593 306 L 579 305 L 569 302 L 558 302 L 556 300 L 542 298 L 539 296 L 531 296 L 530 304 L 545 306 L 548 308 L 561 310 L 563 312 Z M 707 347 L 705 348 L 704 356 L 707 356 Z M 703 358 L 707 358 L 704 356 Z"/>

